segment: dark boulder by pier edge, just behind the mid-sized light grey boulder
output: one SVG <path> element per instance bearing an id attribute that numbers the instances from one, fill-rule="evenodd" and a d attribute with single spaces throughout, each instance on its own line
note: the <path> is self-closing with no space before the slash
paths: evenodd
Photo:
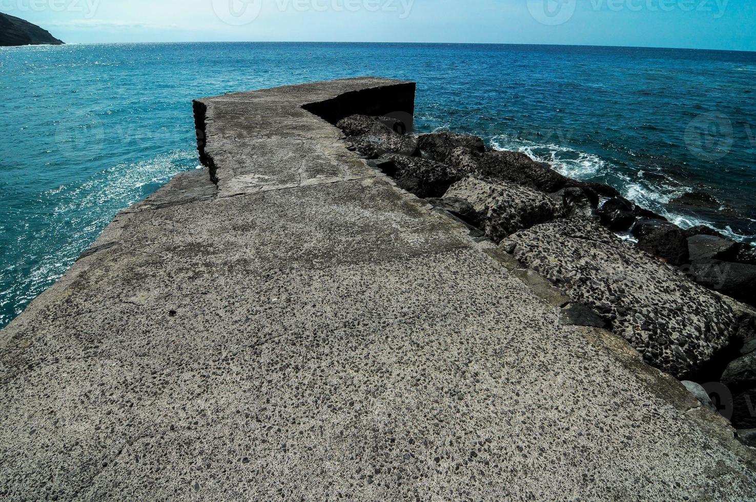
<path id="1" fill-rule="evenodd" d="M 417 197 L 442 197 L 451 184 L 464 178 L 454 167 L 432 160 L 395 153 L 384 154 L 384 158 L 392 166 L 385 165 L 383 172 L 394 178 L 398 187 Z"/>

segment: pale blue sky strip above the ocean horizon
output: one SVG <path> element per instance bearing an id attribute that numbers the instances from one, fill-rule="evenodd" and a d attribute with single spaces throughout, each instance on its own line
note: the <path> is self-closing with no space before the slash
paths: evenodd
<path id="1" fill-rule="evenodd" d="M 756 51 L 754 0 L 0 0 L 68 43 L 461 42 Z"/>

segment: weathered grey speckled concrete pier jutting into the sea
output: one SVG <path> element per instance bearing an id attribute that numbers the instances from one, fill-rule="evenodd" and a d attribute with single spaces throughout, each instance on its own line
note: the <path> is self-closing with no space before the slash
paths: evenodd
<path id="1" fill-rule="evenodd" d="M 198 104 L 217 187 L 122 212 L 0 334 L 0 498 L 756 500 L 722 419 L 300 107 L 396 83 Z"/>

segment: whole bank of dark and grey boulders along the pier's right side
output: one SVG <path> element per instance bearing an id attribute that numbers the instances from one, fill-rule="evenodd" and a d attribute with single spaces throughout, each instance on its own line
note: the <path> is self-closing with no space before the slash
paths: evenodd
<path id="1" fill-rule="evenodd" d="M 613 187 L 566 178 L 476 136 L 412 135 L 387 116 L 336 125 L 349 148 L 398 187 L 460 218 L 558 288 L 573 324 L 622 336 L 754 442 L 752 246 L 707 227 L 683 230 Z"/>

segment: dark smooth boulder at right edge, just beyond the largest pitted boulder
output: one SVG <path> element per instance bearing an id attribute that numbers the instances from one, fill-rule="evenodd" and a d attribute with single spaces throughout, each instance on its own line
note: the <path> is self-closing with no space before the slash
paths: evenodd
<path id="1" fill-rule="evenodd" d="M 756 265 L 702 260 L 683 265 L 680 270 L 697 284 L 756 306 Z"/>

